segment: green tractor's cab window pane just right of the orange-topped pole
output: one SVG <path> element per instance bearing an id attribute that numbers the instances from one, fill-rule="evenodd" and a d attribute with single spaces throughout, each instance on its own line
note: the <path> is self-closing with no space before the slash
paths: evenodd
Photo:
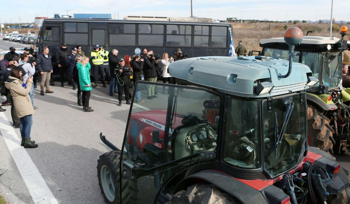
<path id="1" fill-rule="evenodd" d="M 323 52 L 302 52 L 301 56 L 301 63 L 307 65 L 311 69 L 312 76 L 321 80 Z M 314 86 L 318 87 L 318 82 Z"/>

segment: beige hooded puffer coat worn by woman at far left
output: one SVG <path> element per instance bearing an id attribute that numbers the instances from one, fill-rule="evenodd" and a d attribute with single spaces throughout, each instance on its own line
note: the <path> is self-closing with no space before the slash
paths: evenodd
<path id="1" fill-rule="evenodd" d="M 11 92 L 13 104 L 19 118 L 35 114 L 29 97 L 32 84 L 28 82 L 27 89 L 25 89 L 22 84 L 23 82 L 20 79 L 11 76 L 9 76 L 5 82 L 6 88 Z"/>

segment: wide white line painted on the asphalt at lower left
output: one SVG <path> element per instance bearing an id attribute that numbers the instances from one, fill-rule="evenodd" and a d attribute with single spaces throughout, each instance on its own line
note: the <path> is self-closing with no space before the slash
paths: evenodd
<path id="1" fill-rule="evenodd" d="M 34 203 L 58 204 L 3 112 L 0 112 L 0 132 Z"/>

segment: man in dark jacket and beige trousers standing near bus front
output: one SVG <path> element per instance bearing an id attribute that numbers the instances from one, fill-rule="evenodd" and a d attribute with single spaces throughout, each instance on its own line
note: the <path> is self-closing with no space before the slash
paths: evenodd
<path id="1" fill-rule="evenodd" d="M 43 47 L 43 52 L 38 54 L 38 72 L 41 74 L 40 95 L 44 96 L 44 84 L 46 93 L 53 93 L 50 91 L 49 82 L 52 73 L 51 56 L 49 55 L 49 48 Z"/>

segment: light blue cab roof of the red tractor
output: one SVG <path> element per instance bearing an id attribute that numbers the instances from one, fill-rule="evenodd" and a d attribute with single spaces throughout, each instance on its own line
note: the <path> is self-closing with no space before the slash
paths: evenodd
<path id="1" fill-rule="evenodd" d="M 293 63 L 287 78 L 278 74 L 288 72 L 289 62 L 264 56 L 245 57 L 194 57 L 182 59 L 169 65 L 171 76 L 186 80 L 188 84 L 213 87 L 221 92 L 241 97 L 268 97 L 296 92 L 307 88 L 308 66 Z M 258 95 L 255 87 L 261 82 L 271 82 L 274 87 Z"/>

